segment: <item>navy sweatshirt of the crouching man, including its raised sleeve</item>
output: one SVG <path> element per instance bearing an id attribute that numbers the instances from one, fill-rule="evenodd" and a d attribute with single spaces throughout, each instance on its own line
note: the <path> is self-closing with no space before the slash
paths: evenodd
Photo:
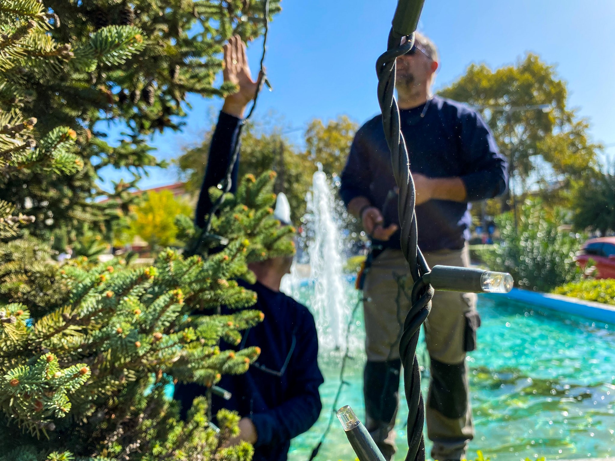
<path id="1" fill-rule="evenodd" d="M 239 119 L 220 112 L 218 125 L 210 144 L 205 179 L 197 204 L 196 224 L 212 207 L 208 189 L 222 181 L 232 158 L 237 140 Z M 237 184 L 237 163 L 233 168 L 231 191 Z M 224 375 L 220 387 L 231 392 L 231 400 L 213 396 L 212 414 L 221 408 L 249 417 L 256 428 L 255 461 L 284 461 L 290 440 L 307 431 L 319 417 L 319 386 L 323 377 L 318 368 L 318 338 L 314 317 L 308 308 L 292 297 L 272 291 L 261 283 L 238 283 L 256 292 L 257 301 L 250 309 L 264 313 L 264 320 L 244 333 L 237 347 L 221 344 L 221 349 L 243 349 L 258 346 L 261 355 L 242 375 Z M 231 313 L 227 307 L 222 313 Z M 178 384 L 175 398 L 181 401 L 185 415 L 192 400 L 203 395 L 205 388 L 197 384 Z"/>

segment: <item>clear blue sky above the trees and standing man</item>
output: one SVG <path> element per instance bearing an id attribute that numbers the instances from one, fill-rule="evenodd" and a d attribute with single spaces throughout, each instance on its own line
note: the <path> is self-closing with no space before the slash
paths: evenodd
<path id="1" fill-rule="evenodd" d="M 378 113 L 375 62 L 397 0 L 282 0 L 271 23 L 266 66 L 274 87 L 263 91 L 255 119 L 275 113 L 289 127 L 347 114 L 359 123 Z M 436 89 L 453 82 L 470 63 L 491 68 L 538 53 L 568 82 L 569 104 L 590 119 L 593 140 L 610 145 L 615 157 L 615 1 L 613 0 L 426 0 L 419 30 L 438 45 L 441 68 Z M 248 48 L 256 74 L 257 41 Z M 221 100 L 190 97 L 192 109 L 181 133 L 156 135 L 161 159 L 198 143 Z M 103 128 L 103 127 L 101 127 Z M 113 137 L 119 128 L 111 128 Z M 289 135 L 301 142 L 301 132 Z M 105 171 L 105 179 L 118 179 Z M 127 177 L 127 176 L 126 176 Z M 152 170 L 142 188 L 177 181 L 177 171 Z M 108 185 L 103 184 L 104 186 Z"/>

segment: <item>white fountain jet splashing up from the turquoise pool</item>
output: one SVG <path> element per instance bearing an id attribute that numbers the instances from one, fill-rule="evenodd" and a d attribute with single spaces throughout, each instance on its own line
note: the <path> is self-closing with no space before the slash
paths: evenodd
<path id="1" fill-rule="evenodd" d="M 314 314 L 321 350 L 343 349 L 346 344 L 346 322 L 354 303 L 349 296 L 348 282 L 343 274 L 343 240 L 336 217 L 335 200 L 322 164 L 312 178 L 312 191 L 308 193 L 308 215 L 304 216 L 308 228 L 309 278 L 301 278 L 298 264 L 293 262 L 291 274 L 282 281 L 282 291 L 297 298 L 300 286 L 313 287 L 308 300 Z"/>

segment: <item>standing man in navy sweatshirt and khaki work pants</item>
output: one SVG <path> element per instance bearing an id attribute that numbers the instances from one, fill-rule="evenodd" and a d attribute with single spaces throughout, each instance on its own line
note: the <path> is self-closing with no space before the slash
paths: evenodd
<path id="1" fill-rule="evenodd" d="M 416 34 L 416 45 L 397 59 L 403 137 L 416 186 L 418 243 L 430 266 L 468 266 L 469 202 L 504 192 L 506 162 L 489 128 L 472 109 L 432 97 L 438 68 L 435 45 Z M 363 125 L 341 175 L 340 194 L 363 223 L 373 244 L 365 272 L 364 373 L 366 426 L 386 459 L 395 453 L 394 424 L 399 390 L 399 333 L 408 310 L 412 279 L 400 250 L 397 187 L 382 116 Z M 405 235 L 403 237 L 406 237 Z M 406 275 L 408 297 L 396 304 L 394 275 Z M 474 436 L 466 352 L 475 349 L 480 318 L 471 293 L 437 292 L 425 323 L 431 358 L 426 403 L 432 458 L 463 459 Z"/>

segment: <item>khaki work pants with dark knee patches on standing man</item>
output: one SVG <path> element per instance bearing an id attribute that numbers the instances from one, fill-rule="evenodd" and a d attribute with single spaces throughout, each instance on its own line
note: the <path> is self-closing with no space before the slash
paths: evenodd
<path id="1" fill-rule="evenodd" d="M 426 253 L 427 264 L 469 266 L 469 251 Z M 399 283 L 405 290 L 399 290 Z M 395 416 L 399 404 L 400 328 L 410 309 L 412 278 L 400 250 L 384 250 L 373 261 L 363 289 L 366 301 L 364 375 L 366 426 L 389 460 L 395 454 Z M 396 298 L 399 302 L 396 302 Z M 432 458 L 464 459 L 474 436 L 466 352 L 475 349 L 480 318 L 474 293 L 436 291 L 424 328 L 431 358 L 426 400 L 427 436 L 434 443 Z"/>

